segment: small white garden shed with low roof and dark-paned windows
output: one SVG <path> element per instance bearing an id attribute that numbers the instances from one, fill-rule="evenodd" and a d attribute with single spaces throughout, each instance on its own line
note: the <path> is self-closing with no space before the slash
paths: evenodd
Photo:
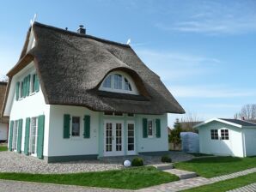
<path id="1" fill-rule="evenodd" d="M 198 129 L 200 153 L 235 157 L 256 155 L 256 123 L 212 118 L 193 128 Z"/>

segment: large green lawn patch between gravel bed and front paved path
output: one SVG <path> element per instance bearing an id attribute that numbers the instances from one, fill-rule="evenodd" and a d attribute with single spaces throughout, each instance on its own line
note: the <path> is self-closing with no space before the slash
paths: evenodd
<path id="1" fill-rule="evenodd" d="M 118 171 L 83 172 L 72 174 L 0 173 L 0 179 L 58 183 L 113 189 L 141 189 L 179 180 L 179 177 L 145 166 Z"/>

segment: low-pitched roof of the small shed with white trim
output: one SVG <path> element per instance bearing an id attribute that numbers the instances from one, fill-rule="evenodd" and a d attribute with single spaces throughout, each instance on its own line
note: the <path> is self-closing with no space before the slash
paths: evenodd
<path id="1" fill-rule="evenodd" d="M 210 123 L 210 122 L 213 122 L 213 121 L 226 123 L 226 124 L 238 127 L 238 128 L 242 128 L 242 127 L 256 128 L 256 123 L 251 123 L 251 122 L 247 122 L 247 121 L 244 121 L 244 120 L 231 119 L 231 118 L 212 118 L 210 120 L 204 121 L 203 123 L 199 123 L 199 124 L 195 125 L 193 128 L 199 128 L 199 127 L 203 126 L 204 124 L 207 124 L 207 123 Z"/>

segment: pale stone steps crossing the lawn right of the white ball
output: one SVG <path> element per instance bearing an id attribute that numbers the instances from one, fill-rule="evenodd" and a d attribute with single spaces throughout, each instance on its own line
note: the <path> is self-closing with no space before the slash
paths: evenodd
<path id="1" fill-rule="evenodd" d="M 155 166 L 155 168 L 158 170 L 165 171 L 175 176 L 178 176 L 180 177 L 180 179 L 198 177 L 197 173 L 195 172 L 174 169 L 174 166 L 172 164 L 158 164 L 153 166 Z"/>

